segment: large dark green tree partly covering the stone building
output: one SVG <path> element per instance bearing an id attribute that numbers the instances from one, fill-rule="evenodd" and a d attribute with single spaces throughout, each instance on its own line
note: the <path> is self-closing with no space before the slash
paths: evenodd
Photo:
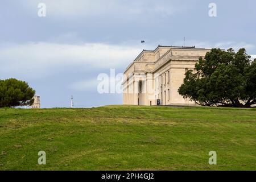
<path id="1" fill-rule="evenodd" d="M 256 104 L 256 59 L 246 50 L 212 49 L 185 73 L 178 92 L 203 106 L 251 107 Z"/>

